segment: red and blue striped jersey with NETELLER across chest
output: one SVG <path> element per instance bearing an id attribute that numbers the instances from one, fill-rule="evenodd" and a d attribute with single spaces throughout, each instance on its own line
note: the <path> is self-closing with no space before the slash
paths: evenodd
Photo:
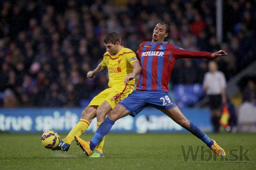
<path id="1" fill-rule="evenodd" d="M 141 64 L 141 74 L 136 90 L 168 90 L 171 71 L 178 58 L 212 58 L 212 53 L 189 51 L 173 44 L 145 41 L 136 55 Z"/>

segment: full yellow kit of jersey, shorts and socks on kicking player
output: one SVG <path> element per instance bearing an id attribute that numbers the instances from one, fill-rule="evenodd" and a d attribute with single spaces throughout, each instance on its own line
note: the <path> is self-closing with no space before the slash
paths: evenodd
<path id="1" fill-rule="evenodd" d="M 124 78 L 127 75 L 132 74 L 133 67 L 132 63 L 138 61 L 135 53 L 128 49 L 122 47 L 122 49 L 116 55 L 110 55 L 107 51 L 104 54 L 101 65 L 103 67 L 108 68 L 108 76 L 109 88 L 102 91 L 100 94 L 95 96 L 93 100 L 90 102 L 89 106 L 100 106 L 102 102 L 107 101 L 111 108 L 113 109 L 119 101 L 127 97 L 134 90 L 135 79 L 130 80 L 128 84 L 124 84 Z M 100 126 L 102 122 L 97 122 L 97 128 Z M 59 146 L 61 150 L 67 151 L 69 150 L 69 146 L 71 142 L 74 140 L 74 135 L 80 136 L 83 132 L 88 128 L 90 122 L 86 119 L 80 119 L 76 126 L 72 128 L 67 137 L 62 140 L 62 145 Z M 102 157 L 102 147 L 104 145 L 105 137 L 103 137 L 102 141 L 95 148 L 97 152 L 93 157 Z M 64 147 L 65 144 L 65 147 Z M 100 156 L 100 154 L 101 156 Z"/>

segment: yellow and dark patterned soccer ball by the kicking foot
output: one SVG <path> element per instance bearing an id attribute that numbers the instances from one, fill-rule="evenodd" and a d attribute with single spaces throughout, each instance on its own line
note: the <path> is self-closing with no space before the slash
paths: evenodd
<path id="1" fill-rule="evenodd" d="M 55 149 L 59 143 L 59 135 L 54 130 L 47 130 L 41 137 L 43 147 Z"/>

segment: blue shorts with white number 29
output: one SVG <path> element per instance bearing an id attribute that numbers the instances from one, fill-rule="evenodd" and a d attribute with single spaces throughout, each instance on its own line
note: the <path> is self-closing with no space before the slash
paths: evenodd
<path id="1" fill-rule="evenodd" d="M 169 93 L 165 90 L 156 91 L 137 91 L 134 90 L 125 99 L 121 100 L 121 104 L 126 110 L 131 112 L 131 116 L 136 116 L 141 110 L 147 106 L 153 106 L 160 109 L 171 109 L 176 107 Z"/>

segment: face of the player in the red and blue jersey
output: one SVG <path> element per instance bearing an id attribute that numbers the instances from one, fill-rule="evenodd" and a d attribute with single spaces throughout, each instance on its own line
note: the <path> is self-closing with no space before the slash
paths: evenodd
<path id="1" fill-rule="evenodd" d="M 166 33 L 166 27 L 158 23 L 153 31 L 152 40 L 153 42 L 163 42 L 168 34 L 169 33 Z"/>

